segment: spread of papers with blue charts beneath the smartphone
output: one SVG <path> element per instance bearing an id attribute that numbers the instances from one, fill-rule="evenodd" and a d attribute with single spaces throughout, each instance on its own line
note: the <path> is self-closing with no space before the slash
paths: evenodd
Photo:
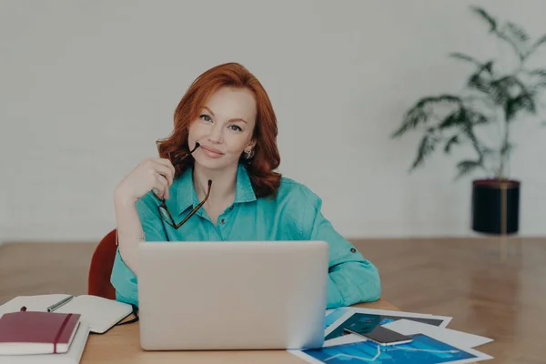
<path id="1" fill-rule="evenodd" d="M 379 325 L 409 335 L 413 340 L 406 344 L 381 346 L 344 330 L 359 319 L 370 316 L 380 316 Z M 322 348 L 289 351 L 309 363 L 328 364 L 462 364 L 493 359 L 474 349 L 492 339 L 447 329 L 451 319 L 413 312 L 338 308 L 326 312 Z"/>

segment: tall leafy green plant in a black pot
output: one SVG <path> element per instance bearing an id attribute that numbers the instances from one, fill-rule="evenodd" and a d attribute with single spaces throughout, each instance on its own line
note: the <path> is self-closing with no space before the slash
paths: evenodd
<path id="1" fill-rule="evenodd" d="M 531 69 L 527 61 L 546 43 L 546 35 L 531 41 L 521 26 L 500 24 L 480 7 L 472 6 L 471 10 L 488 25 L 491 35 L 510 46 L 514 65 L 506 70 L 499 59 L 481 61 L 461 53 L 451 54 L 472 65 L 463 90 L 420 98 L 392 137 L 422 130 L 410 170 L 420 167 L 438 149 L 450 154 L 455 148 L 470 147 L 473 157 L 459 161 L 456 178 L 477 171 L 485 174 L 472 181 L 472 229 L 511 234 L 519 229 L 521 187 L 519 180 L 509 178 L 508 163 L 514 150 L 511 129 L 518 120 L 538 113 L 538 95 L 546 88 L 546 69 Z"/>

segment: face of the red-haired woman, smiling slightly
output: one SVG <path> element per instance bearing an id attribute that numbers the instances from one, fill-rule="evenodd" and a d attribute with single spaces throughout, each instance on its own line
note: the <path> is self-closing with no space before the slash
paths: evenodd
<path id="1" fill-rule="evenodd" d="M 193 149 L 196 142 L 201 145 L 192 154 L 196 164 L 208 169 L 237 166 L 241 153 L 256 144 L 252 140 L 256 114 L 256 100 L 250 90 L 219 88 L 189 126 L 188 146 Z"/>

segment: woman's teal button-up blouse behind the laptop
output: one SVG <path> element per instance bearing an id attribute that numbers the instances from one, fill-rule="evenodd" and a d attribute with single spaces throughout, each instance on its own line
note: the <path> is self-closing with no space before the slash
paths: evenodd
<path id="1" fill-rule="evenodd" d="M 192 168 L 188 168 L 170 187 L 167 207 L 176 223 L 199 204 L 192 176 Z M 378 269 L 322 215 L 322 200 L 308 187 L 287 177 L 281 178 L 277 197 L 257 198 L 247 168 L 239 164 L 235 200 L 217 218 L 217 226 L 205 209 L 199 208 L 182 227 L 175 229 L 160 217 L 159 203 L 151 192 L 136 202 L 147 241 L 324 240 L 329 243 L 327 308 L 379 299 Z M 111 282 L 117 300 L 138 306 L 138 282 L 119 249 Z"/>

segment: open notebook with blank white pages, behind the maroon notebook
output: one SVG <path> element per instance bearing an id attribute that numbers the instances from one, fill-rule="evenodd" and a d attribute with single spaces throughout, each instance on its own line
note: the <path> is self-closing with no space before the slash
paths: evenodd
<path id="1" fill-rule="evenodd" d="M 19 311 L 22 307 L 27 311 L 45 312 L 48 307 L 69 297 L 71 296 L 65 294 L 18 296 L 0 306 L 0 316 L 7 312 Z M 72 298 L 54 312 L 79 313 L 81 320 L 86 322 L 91 332 L 103 334 L 133 313 L 133 307 L 112 299 L 82 295 Z"/>

